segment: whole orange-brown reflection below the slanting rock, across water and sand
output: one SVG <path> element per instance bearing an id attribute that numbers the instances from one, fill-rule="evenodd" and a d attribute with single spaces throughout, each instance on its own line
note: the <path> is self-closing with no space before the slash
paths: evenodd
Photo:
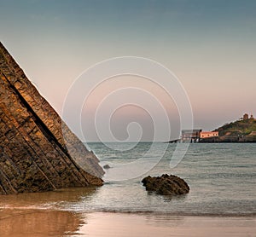
<path id="1" fill-rule="evenodd" d="M 91 187 L 0 195 L 0 236 L 73 236 L 86 217 L 70 209 L 95 192 Z"/>

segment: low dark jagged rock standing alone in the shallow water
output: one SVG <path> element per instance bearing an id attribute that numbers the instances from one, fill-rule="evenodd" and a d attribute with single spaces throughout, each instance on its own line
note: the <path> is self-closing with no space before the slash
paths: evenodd
<path id="1" fill-rule="evenodd" d="M 189 193 L 189 185 L 182 178 L 172 175 L 143 178 L 143 186 L 147 191 L 162 195 L 180 195 Z"/>

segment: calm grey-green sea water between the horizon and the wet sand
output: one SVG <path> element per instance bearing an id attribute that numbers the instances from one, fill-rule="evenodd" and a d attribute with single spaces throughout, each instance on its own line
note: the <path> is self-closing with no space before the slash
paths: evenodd
<path id="1" fill-rule="evenodd" d="M 102 143 L 86 144 L 101 164 L 128 164 L 146 156 L 154 169 L 137 178 L 116 182 L 108 180 L 100 188 L 72 188 L 42 194 L 1 197 L 0 208 L 9 206 L 77 212 L 132 212 L 189 216 L 256 216 L 256 143 L 190 144 L 181 162 L 170 168 L 176 144 L 150 142 L 116 143 L 115 150 Z M 120 151 L 118 151 L 120 150 Z M 107 171 L 111 172 L 111 169 Z M 132 172 L 132 171 L 131 171 Z M 143 176 L 174 174 L 188 182 L 189 194 L 160 196 L 145 191 Z"/>

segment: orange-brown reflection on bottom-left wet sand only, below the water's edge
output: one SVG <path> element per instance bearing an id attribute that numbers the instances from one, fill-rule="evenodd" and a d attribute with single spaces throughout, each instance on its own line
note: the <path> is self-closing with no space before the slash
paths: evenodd
<path id="1" fill-rule="evenodd" d="M 68 211 L 5 210 L 0 212 L 1 236 L 65 236 L 76 234 L 79 214 Z"/>

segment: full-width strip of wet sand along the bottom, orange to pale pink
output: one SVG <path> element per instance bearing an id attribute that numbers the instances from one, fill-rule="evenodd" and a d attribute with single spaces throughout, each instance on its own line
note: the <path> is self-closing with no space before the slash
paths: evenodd
<path id="1" fill-rule="evenodd" d="M 0 211 L 1 236 L 256 236 L 256 217 Z"/>

